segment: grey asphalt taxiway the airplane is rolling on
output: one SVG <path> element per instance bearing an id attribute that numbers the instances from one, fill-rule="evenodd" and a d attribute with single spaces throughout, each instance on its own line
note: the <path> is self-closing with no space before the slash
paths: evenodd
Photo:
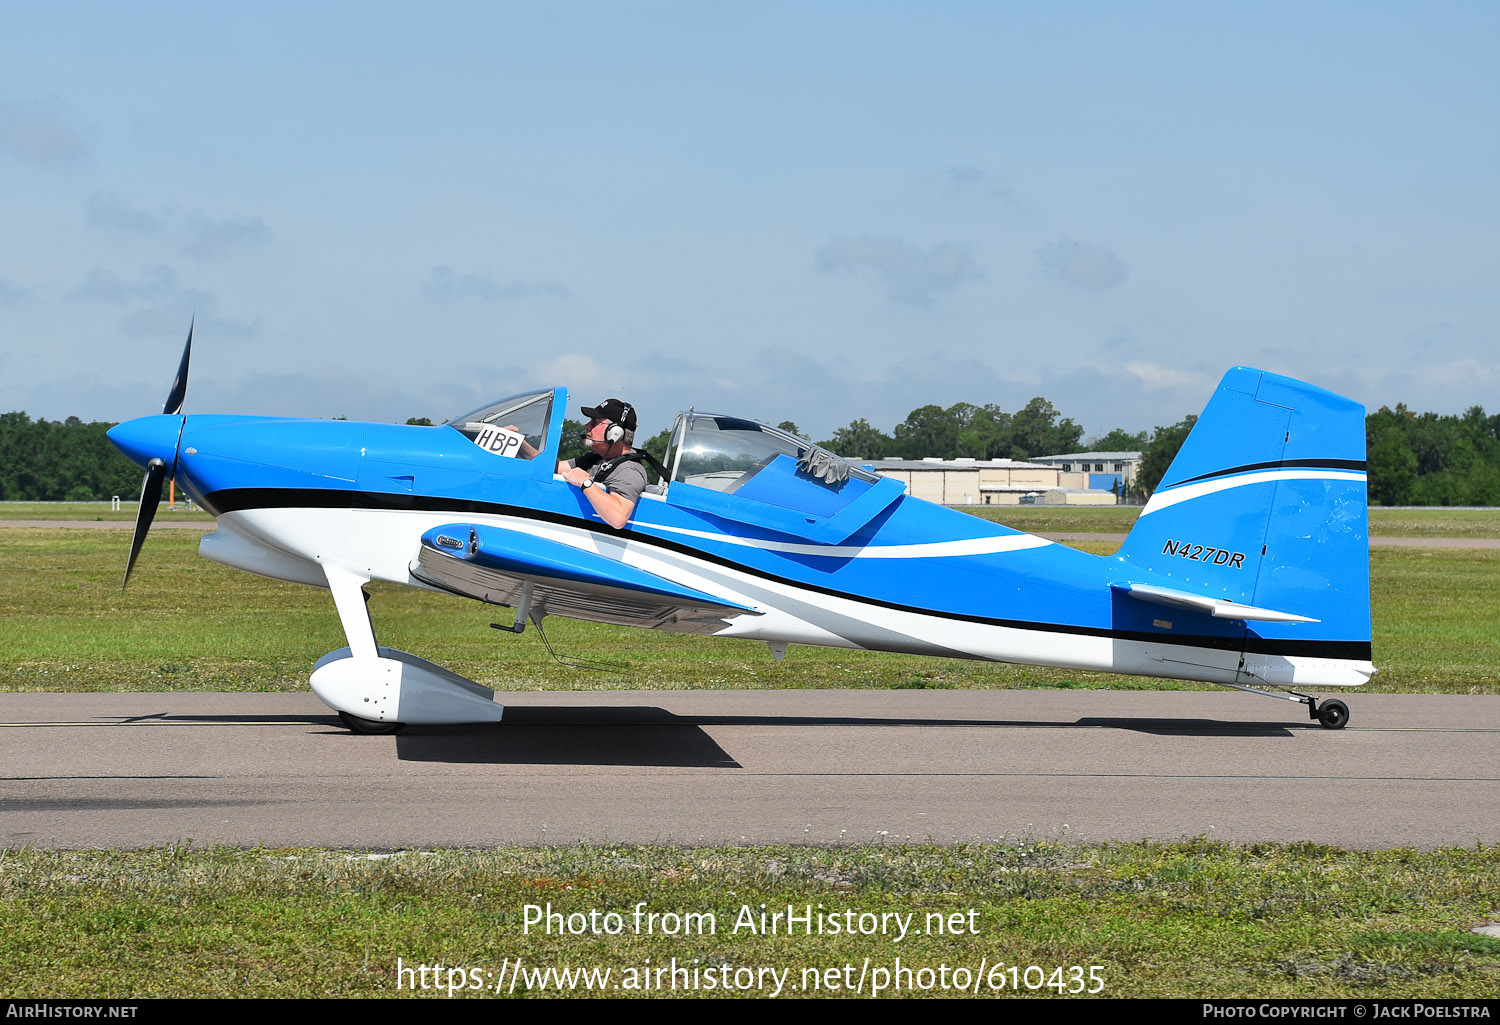
<path id="1" fill-rule="evenodd" d="M 0 846 L 1500 842 L 1500 699 L 1338 696 L 534 692 L 362 737 L 310 693 L 6 693 Z"/>

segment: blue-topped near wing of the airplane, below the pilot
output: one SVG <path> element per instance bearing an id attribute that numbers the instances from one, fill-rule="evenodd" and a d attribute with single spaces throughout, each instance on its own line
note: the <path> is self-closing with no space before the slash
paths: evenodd
<path id="1" fill-rule="evenodd" d="M 760 615 L 621 561 L 624 543 L 602 548 L 506 527 L 446 524 L 422 536 L 411 573 L 432 587 L 510 606 L 530 582 L 531 608 L 543 615 L 680 633 L 717 633 L 738 615 Z"/>

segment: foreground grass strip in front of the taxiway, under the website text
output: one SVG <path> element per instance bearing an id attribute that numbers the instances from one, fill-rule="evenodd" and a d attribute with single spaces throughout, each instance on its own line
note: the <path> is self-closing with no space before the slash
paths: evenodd
<path id="1" fill-rule="evenodd" d="M 632 995 L 628 971 L 674 957 L 746 980 L 756 968 L 789 972 L 782 995 L 813 995 L 804 969 L 852 965 L 838 971 L 838 990 L 818 990 L 844 995 L 866 957 L 886 971 L 900 957 L 914 971 L 910 984 L 924 978 L 915 971 L 932 972 L 927 995 L 958 995 L 951 983 L 940 989 L 942 966 L 972 977 L 981 962 L 999 962 L 1017 966 L 1022 995 L 1058 996 L 1047 980 L 1064 993 L 1092 989 L 1096 965 L 1102 996 L 1492 999 L 1500 939 L 1472 929 L 1494 920 L 1497 893 L 1496 848 L 582 845 L 380 858 L 9 851 L 0 852 L 0 996 L 396 996 L 398 957 L 406 966 L 480 969 L 482 984 L 492 986 L 486 972 L 520 956 L 532 971 L 609 968 L 622 983 L 606 987 L 610 996 Z M 633 935 L 639 902 L 660 912 L 711 912 L 714 932 Z M 526 935 L 528 903 L 564 915 L 616 912 L 632 924 L 621 935 Z M 732 930 L 742 906 L 758 914 L 762 903 L 912 914 L 922 924 L 938 914 L 962 926 L 940 936 L 914 929 L 902 941 Z M 1030 965 L 1041 971 L 1028 974 Z M 1082 971 L 1066 971 L 1072 965 Z M 746 995 L 771 995 L 771 978 L 760 978 L 764 989 Z M 826 986 L 828 975 L 819 978 Z M 999 995 L 1014 992 L 1005 968 L 984 972 L 981 987 L 984 978 L 1004 981 Z M 414 975 L 404 980 L 412 983 Z M 516 987 L 516 995 L 548 992 L 555 987 Z"/>

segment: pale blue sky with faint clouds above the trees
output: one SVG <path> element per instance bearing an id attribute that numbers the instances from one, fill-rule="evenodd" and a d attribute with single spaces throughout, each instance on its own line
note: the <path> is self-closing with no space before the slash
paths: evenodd
<path id="1" fill-rule="evenodd" d="M 0 411 L 1500 413 L 1500 5 L 0 0 Z M 1488 128 L 1486 128 L 1488 125 Z"/>

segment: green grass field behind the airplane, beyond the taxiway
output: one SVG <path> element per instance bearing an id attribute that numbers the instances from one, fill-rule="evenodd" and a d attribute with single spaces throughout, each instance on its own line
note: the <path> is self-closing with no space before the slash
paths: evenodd
<path id="1" fill-rule="evenodd" d="M 344 647 L 327 591 L 196 555 L 196 531 L 153 533 L 120 593 L 122 530 L 0 528 L 0 690 L 298 690 Z M 1082 543 L 1086 551 L 1110 545 Z M 1500 551 L 1371 552 L 1380 692 L 1500 692 Z M 507 609 L 372 587 L 382 644 L 498 690 L 692 687 L 1191 687 L 1137 677 L 926 656 L 788 648 L 548 620 L 562 653 L 618 651 L 621 669 L 556 665 L 534 630 L 489 629 Z"/>

